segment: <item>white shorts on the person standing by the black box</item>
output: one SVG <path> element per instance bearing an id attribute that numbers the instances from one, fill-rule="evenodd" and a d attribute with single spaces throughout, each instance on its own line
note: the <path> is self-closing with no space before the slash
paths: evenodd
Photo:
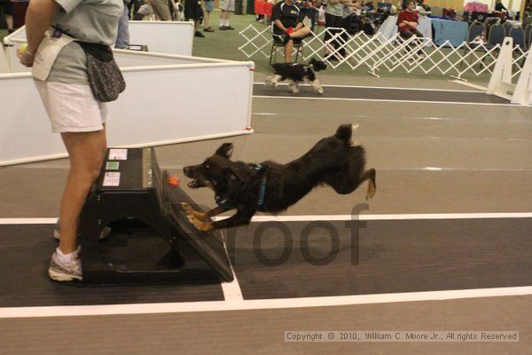
<path id="1" fill-rule="evenodd" d="M 94 98 L 89 85 L 34 80 L 50 118 L 51 131 L 90 132 L 103 130 L 109 119 L 107 106 Z"/>

